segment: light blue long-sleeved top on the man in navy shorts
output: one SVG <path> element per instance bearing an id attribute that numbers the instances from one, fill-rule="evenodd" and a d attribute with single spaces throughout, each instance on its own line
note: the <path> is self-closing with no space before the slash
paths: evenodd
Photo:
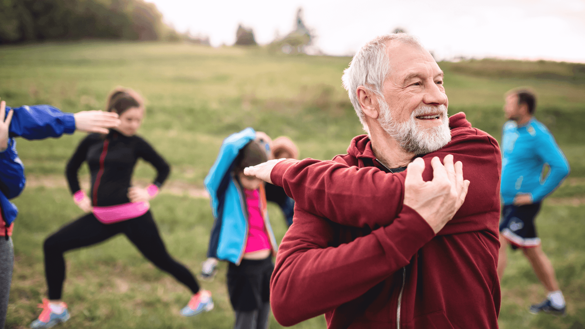
<path id="1" fill-rule="evenodd" d="M 543 166 L 550 167 L 542 177 Z M 569 163 L 552 134 L 535 118 L 519 127 L 504 124 L 500 193 L 505 205 L 513 204 L 518 193 L 531 193 L 532 201 L 548 196 L 569 174 Z"/>

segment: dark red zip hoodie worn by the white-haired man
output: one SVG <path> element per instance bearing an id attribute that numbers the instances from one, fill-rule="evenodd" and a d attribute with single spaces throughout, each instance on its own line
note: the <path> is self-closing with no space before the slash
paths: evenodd
<path id="1" fill-rule="evenodd" d="M 285 160 L 274 184 L 295 200 L 294 222 L 270 282 L 280 324 L 325 313 L 328 328 L 497 328 L 500 148 L 460 112 L 451 142 L 425 155 L 452 154 L 471 181 L 453 220 L 435 235 L 402 205 L 405 172 L 386 173 L 366 135 L 333 161 Z"/>

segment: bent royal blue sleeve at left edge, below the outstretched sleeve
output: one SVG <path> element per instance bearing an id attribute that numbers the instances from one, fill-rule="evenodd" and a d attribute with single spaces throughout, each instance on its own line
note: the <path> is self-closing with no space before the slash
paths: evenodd
<path id="1" fill-rule="evenodd" d="M 11 199 L 19 196 L 25 183 L 25 167 L 16 153 L 16 141 L 10 138 L 8 148 L 0 152 L 0 190 Z"/>

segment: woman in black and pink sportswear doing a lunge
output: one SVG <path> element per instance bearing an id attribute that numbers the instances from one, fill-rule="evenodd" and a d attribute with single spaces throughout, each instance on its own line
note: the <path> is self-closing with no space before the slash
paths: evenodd
<path id="1" fill-rule="evenodd" d="M 67 163 L 66 176 L 73 200 L 87 214 L 64 225 L 44 241 L 49 299 L 43 299 L 40 306 L 43 311 L 31 328 L 51 328 L 70 317 L 67 304 L 61 300 L 65 280 L 63 253 L 98 244 L 120 233 L 125 234 L 149 261 L 191 290 L 191 300 L 181 310 L 183 316 L 193 316 L 214 307 L 211 293 L 200 289 L 190 270 L 168 254 L 150 213 L 149 201 L 159 193 L 170 167 L 146 140 L 136 135 L 144 116 L 142 97 L 128 88 L 116 88 L 108 97 L 106 109 L 118 114 L 121 124 L 107 135 L 88 135 Z M 157 170 L 156 179 L 146 189 L 130 186 L 139 157 Z M 89 196 L 81 190 L 77 176 L 86 161 L 91 174 Z"/>

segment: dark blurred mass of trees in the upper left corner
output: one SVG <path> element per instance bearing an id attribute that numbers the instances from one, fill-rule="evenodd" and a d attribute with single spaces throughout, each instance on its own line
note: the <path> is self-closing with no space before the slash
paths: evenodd
<path id="1" fill-rule="evenodd" d="M 0 44 L 82 38 L 183 40 L 143 0 L 0 0 Z"/>

